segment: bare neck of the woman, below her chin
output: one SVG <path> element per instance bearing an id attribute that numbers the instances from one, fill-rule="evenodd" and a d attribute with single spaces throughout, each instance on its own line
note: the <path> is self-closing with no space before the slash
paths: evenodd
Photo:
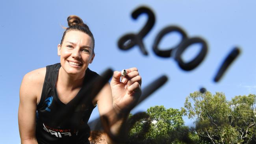
<path id="1" fill-rule="evenodd" d="M 83 75 L 70 75 L 65 72 L 65 70 L 61 67 L 59 68 L 58 79 L 56 85 L 63 87 L 66 90 L 74 90 L 78 87 L 82 87 L 83 85 Z"/>

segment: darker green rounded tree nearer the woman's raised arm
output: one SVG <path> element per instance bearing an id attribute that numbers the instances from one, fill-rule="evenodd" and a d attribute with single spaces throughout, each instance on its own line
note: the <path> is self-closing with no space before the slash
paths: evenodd
<path id="1" fill-rule="evenodd" d="M 184 126 L 184 111 L 157 105 L 141 114 L 144 116 L 130 114 L 130 122 L 137 121 L 130 129 L 130 144 L 184 144 L 191 143 L 190 137 L 196 140 L 195 134 Z"/>

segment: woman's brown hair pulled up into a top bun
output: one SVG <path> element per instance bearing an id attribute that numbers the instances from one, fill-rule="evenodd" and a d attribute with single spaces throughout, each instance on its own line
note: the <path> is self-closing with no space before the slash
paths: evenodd
<path id="1" fill-rule="evenodd" d="M 67 21 L 68 21 L 69 27 L 68 28 L 64 27 L 66 30 L 63 33 L 60 44 L 62 44 L 63 39 L 68 31 L 71 31 L 71 30 L 82 31 L 91 37 L 91 39 L 93 41 L 93 54 L 94 54 L 95 41 L 94 41 L 93 33 L 91 33 L 89 27 L 83 23 L 83 20 L 80 17 L 78 17 L 76 15 L 70 15 L 67 18 Z"/>

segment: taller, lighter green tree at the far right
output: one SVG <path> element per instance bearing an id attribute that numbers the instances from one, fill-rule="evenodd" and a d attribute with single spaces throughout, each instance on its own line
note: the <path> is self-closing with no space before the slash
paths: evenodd
<path id="1" fill-rule="evenodd" d="M 200 143 L 255 143 L 255 95 L 236 96 L 230 102 L 224 93 L 193 92 L 184 103 L 189 118 L 195 118 Z"/>

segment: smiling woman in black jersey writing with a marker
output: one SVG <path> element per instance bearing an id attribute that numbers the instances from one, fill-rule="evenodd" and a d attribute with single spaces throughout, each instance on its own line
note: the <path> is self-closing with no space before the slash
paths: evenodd
<path id="1" fill-rule="evenodd" d="M 125 118 L 116 122 L 114 117 L 132 107 L 141 95 L 141 76 L 137 68 L 126 69 L 127 75 L 121 82 L 121 72 L 115 71 L 110 85 L 106 84 L 94 97 L 81 94 L 80 91 L 98 76 L 88 68 L 95 57 L 94 38 L 81 18 L 71 15 L 67 20 L 69 28 L 58 44 L 60 63 L 33 70 L 22 80 L 18 116 L 22 144 L 89 143 L 87 122 L 96 105 L 100 116 L 108 118 L 111 133 L 119 135 Z M 80 95 L 87 96 L 87 101 L 74 105 L 78 110 L 56 124 L 54 116 Z M 72 125 L 74 121 L 80 121 L 80 126 Z M 107 136 L 106 140 L 112 143 Z"/>

